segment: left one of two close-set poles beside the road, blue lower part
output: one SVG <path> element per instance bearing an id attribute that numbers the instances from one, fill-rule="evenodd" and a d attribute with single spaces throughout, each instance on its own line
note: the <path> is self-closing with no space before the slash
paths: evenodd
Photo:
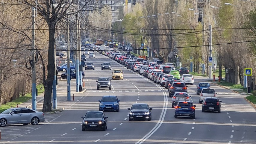
<path id="1" fill-rule="evenodd" d="M 78 42 L 78 16 L 75 16 L 75 23 L 76 23 L 76 36 L 77 36 L 77 44 L 76 44 L 76 52 L 75 52 L 75 79 L 76 79 L 76 92 L 79 92 L 79 58 L 78 58 L 78 51 L 79 51 L 79 42 Z"/>

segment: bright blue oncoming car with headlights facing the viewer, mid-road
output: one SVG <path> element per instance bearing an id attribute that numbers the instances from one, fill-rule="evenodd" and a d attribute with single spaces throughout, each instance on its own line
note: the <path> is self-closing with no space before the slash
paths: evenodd
<path id="1" fill-rule="evenodd" d="M 99 100 L 99 110 L 100 111 L 119 111 L 119 101 L 117 96 L 103 96 Z"/>

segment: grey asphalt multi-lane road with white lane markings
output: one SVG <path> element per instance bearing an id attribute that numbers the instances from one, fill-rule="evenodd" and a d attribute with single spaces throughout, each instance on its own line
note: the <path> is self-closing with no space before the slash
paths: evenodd
<path id="1" fill-rule="evenodd" d="M 202 104 L 196 95 L 196 84 L 203 79 L 195 78 L 195 85 L 188 86 L 192 101 L 196 105 L 196 118 L 174 118 L 171 98 L 164 87 L 127 70 L 108 57 L 96 52 L 96 58 L 87 58 L 95 64 L 95 70 L 85 72 L 86 93 L 76 101 L 66 101 L 66 95 L 58 95 L 58 106 L 65 110 L 57 115 L 46 115 L 46 122 L 39 125 L 11 125 L 1 128 L 2 140 L 7 144 L 255 144 L 256 113 L 243 95 L 211 85 L 222 101 L 221 113 L 202 113 Z M 112 69 L 122 69 L 123 80 L 112 80 L 111 90 L 96 90 L 99 77 L 111 78 L 110 70 L 101 70 L 103 62 L 112 63 Z M 64 86 L 66 81 L 60 84 Z M 72 79 L 75 86 L 75 79 Z M 119 112 L 105 112 L 108 116 L 106 131 L 82 131 L 81 116 L 88 110 L 99 110 L 104 95 L 116 95 L 120 100 Z M 134 103 L 148 103 L 152 110 L 152 121 L 129 122 L 127 108 Z"/>

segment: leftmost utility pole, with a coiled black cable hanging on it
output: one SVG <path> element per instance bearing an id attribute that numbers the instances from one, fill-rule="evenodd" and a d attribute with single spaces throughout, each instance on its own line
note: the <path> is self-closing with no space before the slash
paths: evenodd
<path id="1" fill-rule="evenodd" d="M 37 83 L 36 83 L 36 18 L 35 18 L 35 8 L 32 8 L 32 57 L 34 61 L 34 66 L 32 69 L 32 109 L 37 110 Z"/>

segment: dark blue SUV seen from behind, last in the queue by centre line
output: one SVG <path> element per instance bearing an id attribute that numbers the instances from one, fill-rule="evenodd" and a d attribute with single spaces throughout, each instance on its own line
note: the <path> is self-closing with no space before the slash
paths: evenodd
<path id="1" fill-rule="evenodd" d="M 175 106 L 175 119 L 177 119 L 178 116 L 191 116 L 192 119 L 195 119 L 195 107 L 196 105 L 194 105 L 191 101 L 179 101 L 178 104 Z"/>

